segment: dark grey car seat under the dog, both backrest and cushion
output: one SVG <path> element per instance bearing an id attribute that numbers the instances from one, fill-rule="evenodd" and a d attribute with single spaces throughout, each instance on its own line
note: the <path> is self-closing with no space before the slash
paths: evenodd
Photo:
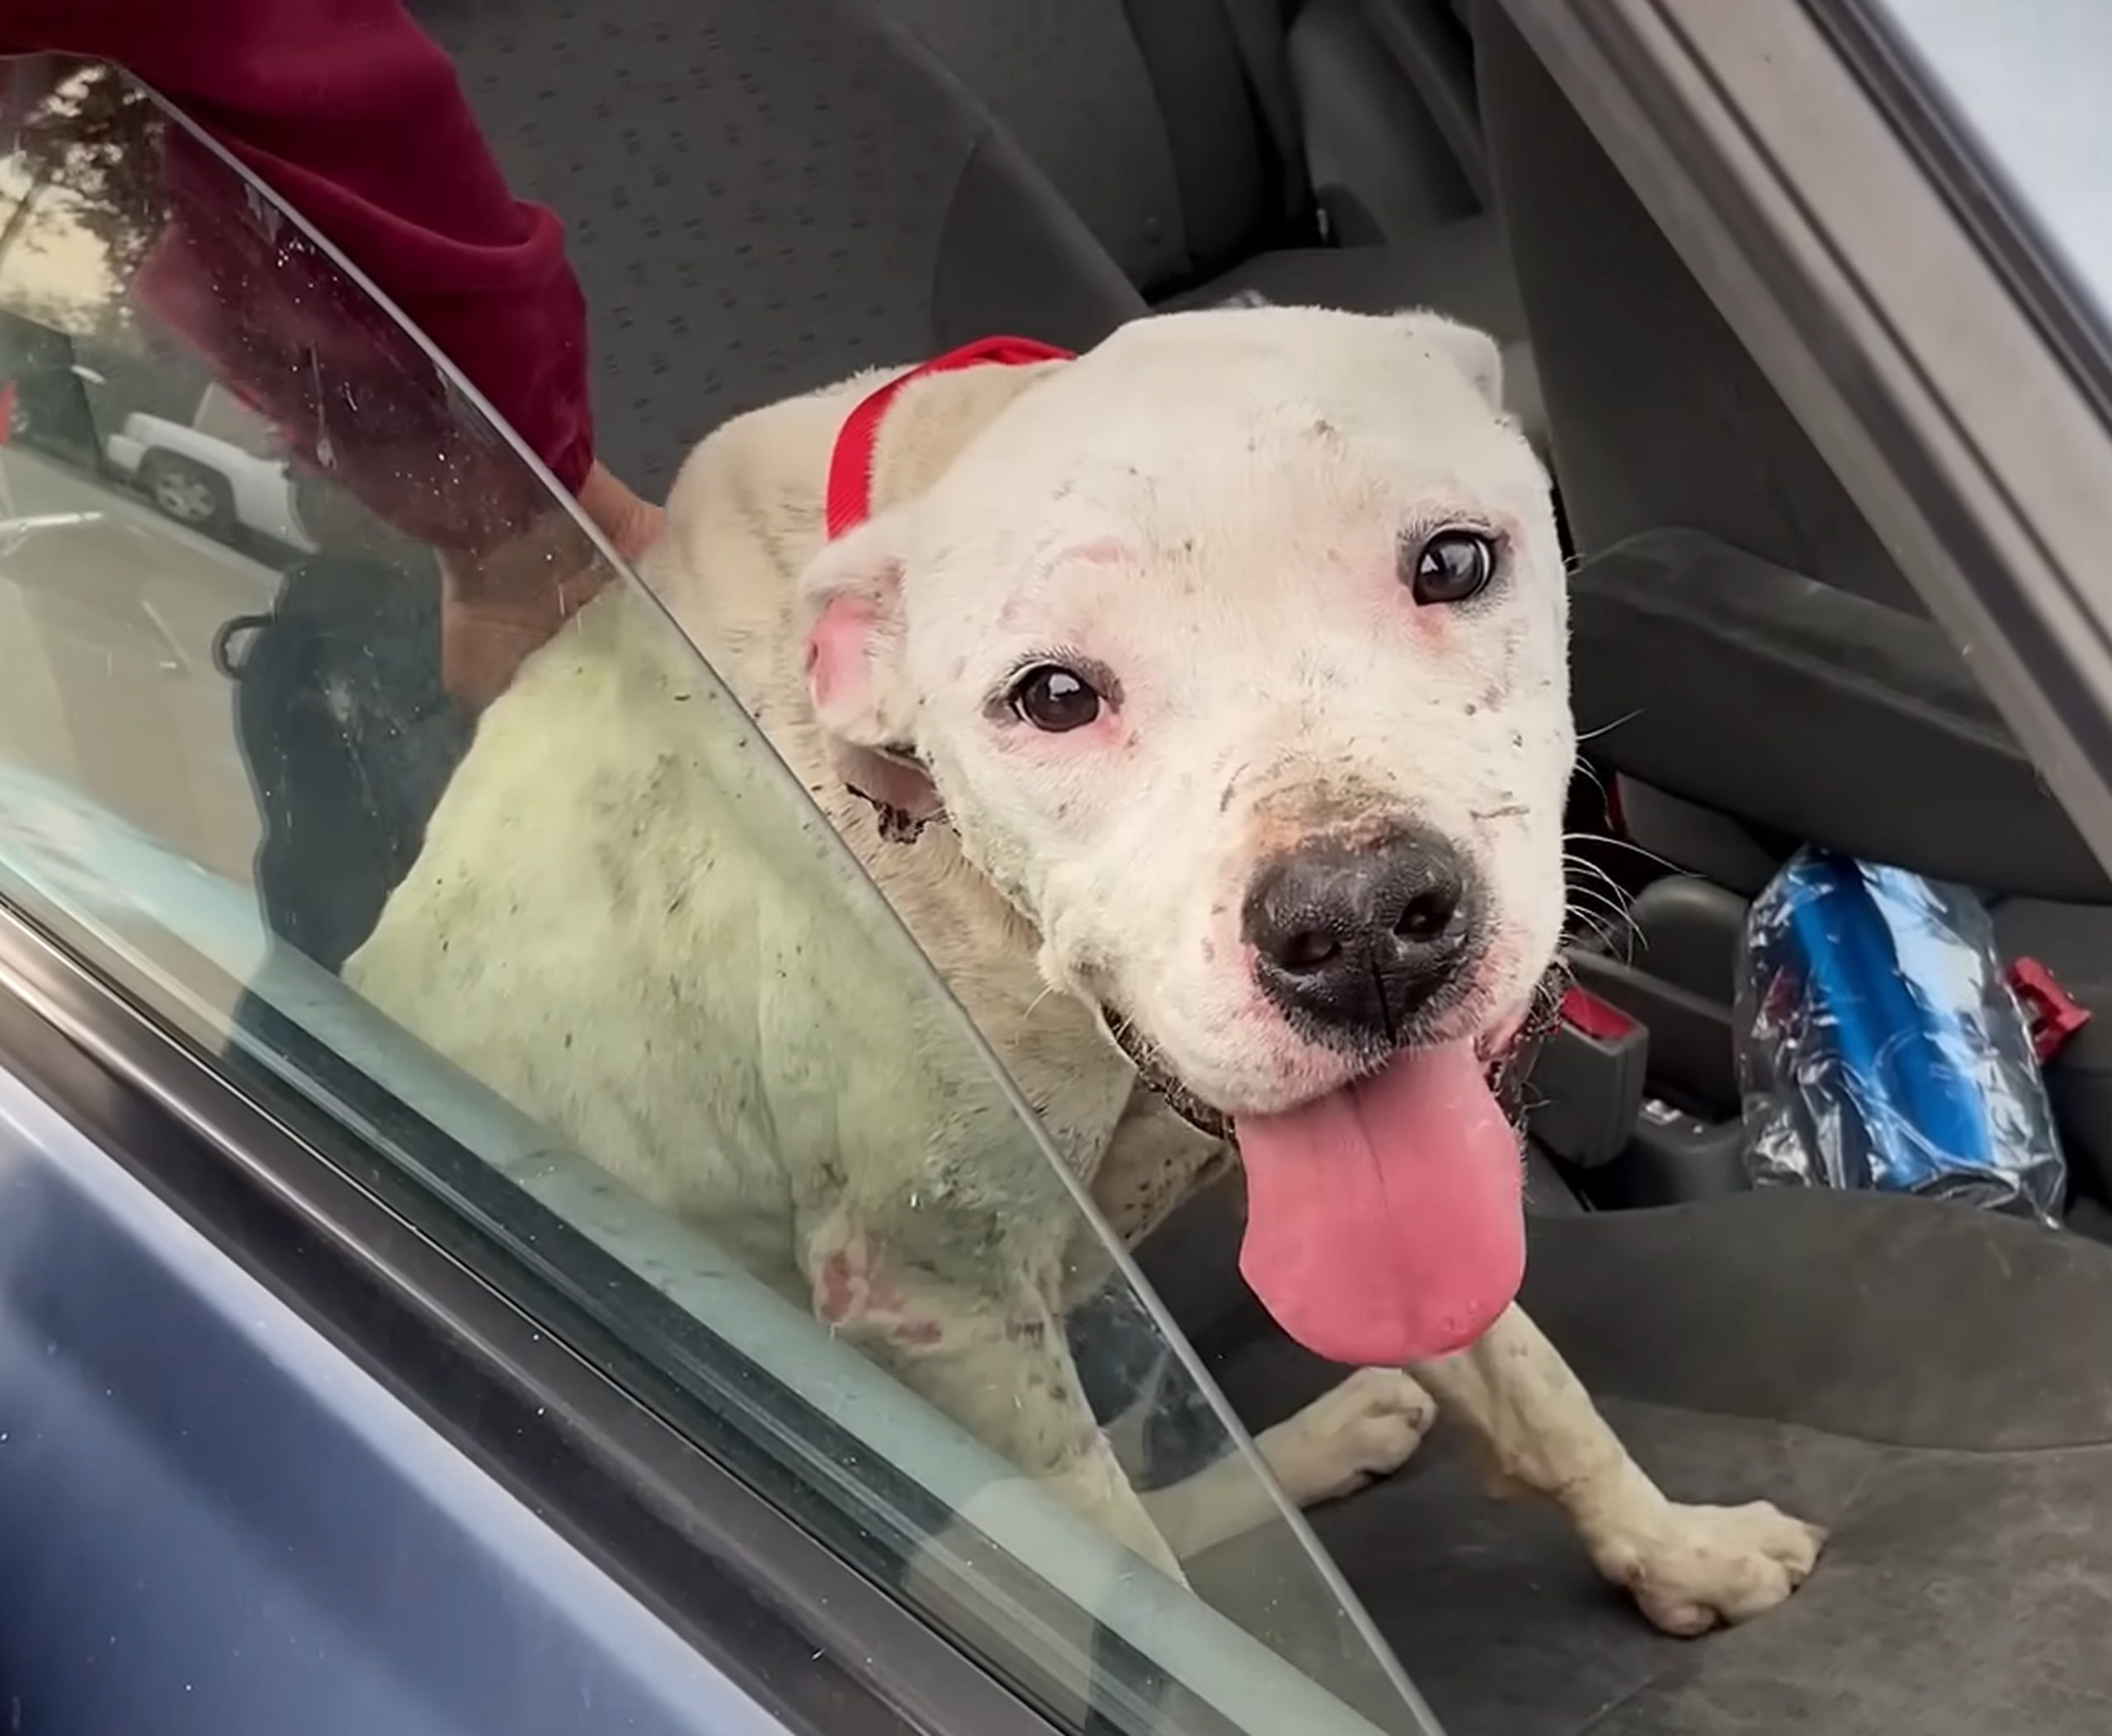
<path id="1" fill-rule="evenodd" d="M 1143 304 L 929 51 L 857 0 L 414 8 L 509 173 L 572 226 L 604 452 L 648 488 L 769 397 L 984 329 L 1083 342 Z M 1339 1371 L 1221 1307 L 1238 1227 L 1217 1191 L 1145 1261 L 1259 1428 Z M 1485 1502 L 1440 1430 L 1314 1521 L 1455 1736 L 2106 1728 L 2112 1358 L 2078 1322 L 2112 1318 L 2112 1252 L 1806 1193 L 1535 1214 L 1531 1238 L 1527 1303 L 1671 1493 L 1774 1497 L 1835 1537 L 1785 1609 L 1668 1641 L 1559 1521 Z M 1198 1580 L 1242 1571 L 1238 1550 Z"/>

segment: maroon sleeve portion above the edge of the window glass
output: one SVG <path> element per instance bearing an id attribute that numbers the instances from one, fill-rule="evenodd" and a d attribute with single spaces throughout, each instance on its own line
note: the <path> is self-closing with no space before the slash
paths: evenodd
<path id="1" fill-rule="evenodd" d="M 591 463 L 585 304 L 401 0 L 8 0 L 0 53 L 116 61 L 344 251 L 558 479 Z M 209 21 L 207 21 L 209 17 Z"/>

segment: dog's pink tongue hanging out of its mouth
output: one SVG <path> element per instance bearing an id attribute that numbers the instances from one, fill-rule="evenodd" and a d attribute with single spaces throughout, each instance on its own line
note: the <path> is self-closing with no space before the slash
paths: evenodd
<path id="1" fill-rule="evenodd" d="M 1419 1050 L 1286 1115 L 1238 1121 L 1240 1271 L 1331 1362 L 1478 1339 L 1525 1278 L 1519 1138 L 1472 1043 Z"/>

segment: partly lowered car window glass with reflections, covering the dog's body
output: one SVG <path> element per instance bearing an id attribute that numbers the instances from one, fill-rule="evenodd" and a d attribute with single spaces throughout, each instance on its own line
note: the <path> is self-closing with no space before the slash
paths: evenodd
<path id="1" fill-rule="evenodd" d="M 207 146 L 116 74 L 40 76 L 0 158 L 11 893 L 391 1153 L 414 1208 L 539 1265 L 697 1396 L 682 1421 L 712 1451 L 1060 1719 L 1423 1728 L 955 1003 L 655 600 Z M 486 701 L 549 682 L 631 731 L 627 775 L 714 838 L 710 864 L 636 841 L 665 969 L 602 1003 L 431 946 L 479 883 L 420 860 L 427 822 L 473 729 L 534 724 Z M 454 798 L 585 815 L 615 792 L 566 746 Z M 741 898 L 678 912 L 705 870 Z M 431 921 L 393 912 L 367 946 L 393 893 Z M 634 919 L 579 908 L 564 946 Z M 479 1016 L 435 1016 L 435 982 Z M 509 1041 L 551 1024 L 577 1043 L 562 1077 Z M 686 1117 L 640 1117 L 612 1079 Z M 874 1284 L 942 1309 L 944 1343 L 824 1324 Z M 1168 1436 L 1236 1523 L 1170 1523 L 1198 1485 L 1136 1493 L 1172 1480 L 1149 1453 Z"/>

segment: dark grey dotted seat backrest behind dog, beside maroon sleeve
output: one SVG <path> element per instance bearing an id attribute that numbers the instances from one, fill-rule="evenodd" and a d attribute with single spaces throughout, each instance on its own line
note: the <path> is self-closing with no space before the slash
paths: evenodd
<path id="1" fill-rule="evenodd" d="M 991 332 L 1143 300 L 1012 137 L 860 0 L 412 0 L 587 296 L 600 456 L 648 496 L 710 429 Z"/>

